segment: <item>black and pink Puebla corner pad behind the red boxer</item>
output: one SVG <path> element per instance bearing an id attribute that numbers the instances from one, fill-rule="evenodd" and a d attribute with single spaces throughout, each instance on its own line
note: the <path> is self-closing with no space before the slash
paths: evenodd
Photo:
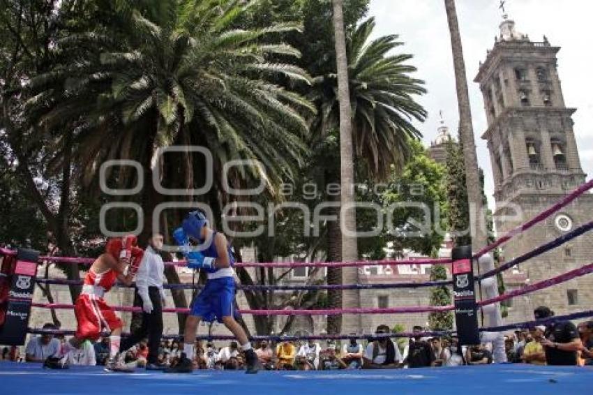
<path id="1" fill-rule="evenodd" d="M 10 289 L 8 304 L 5 305 L 4 323 L 0 326 L 0 344 L 24 345 L 33 303 L 38 259 L 38 251 L 19 249 L 14 270 L 7 274 Z"/>

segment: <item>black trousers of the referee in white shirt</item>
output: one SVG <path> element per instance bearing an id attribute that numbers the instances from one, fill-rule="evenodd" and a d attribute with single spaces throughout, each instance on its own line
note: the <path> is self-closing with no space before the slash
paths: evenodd
<path id="1" fill-rule="evenodd" d="M 160 301 L 158 288 L 149 287 L 149 296 L 152 301 L 152 312 L 142 313 L 142 326 L 135 330 L 127 338 L 121 341 L 120 351 L 126 351 L 133 345 L 148 337 L 149 355 L 147 362 L 156 364 L 158 361 L 158 349 L 160 348 L 160 337 L 163 336 L 163 304 Z M 135 306 L 142 307 L 142 298 L 136 291 Z"/>

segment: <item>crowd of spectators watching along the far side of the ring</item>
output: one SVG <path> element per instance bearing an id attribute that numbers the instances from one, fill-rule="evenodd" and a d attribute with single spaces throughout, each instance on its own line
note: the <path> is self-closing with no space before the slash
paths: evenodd
<path id="1" fill-rule="evenodd" d="M 45 329 L 54 329 L 46 324 Z M 490 344 L 460 346 L 456 337 L 424 338 L 423 328 L 414 327 L 409 341 L 396 342 L 387 334 L 386 325 L 377 327 L 380 336 L 367 344 L 350 338 L 341 346 L 333 341 L 281 341 L 273 344 L 260 341 L 256 354 L 267 370 L 338 370 L 419 368 L 432 366 L 481 365 L 493 362 Z M 509 363 L 534 365 L 587 365 L 593 366 L 593 321 L 575 327 L 570 322 L 560 322 L 548 327 L 538 326 L 515 331 L 505 336 L 505 351 Z M 63 336 L 43 334 L 33 336 L 24 349 L 24 356 L 17 347 L 1 350 L 0 360 L 43 362 L 48 357 L 61 358 L 69 365 L 101 365 L 109 356 L 109 338 L 100 338 L 94 344 L 82 343 L 80 348 L 65 347 Z M 179 341 L 163 340 L 158 350 L 158 364 L 174 366 L 181 357 Z M 126 364 L 144 366 L 147 363 L 146 341 L 128 350 L 121 358 Z M 194 368 L 214 370 L 241 370 L 245 358 L 239 345 L 231 341 L 217 348 L 214 343 L 196 341 Z"/>

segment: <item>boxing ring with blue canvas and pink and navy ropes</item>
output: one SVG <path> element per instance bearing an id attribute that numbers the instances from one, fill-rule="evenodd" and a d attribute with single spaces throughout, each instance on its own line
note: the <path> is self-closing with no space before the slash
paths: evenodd
<path id="1" fill-rule="evenodd" d="M 481 251 L 472 255 L 472 260 L 480 261 L 488 254 L 502 244 L 512 242 L 513 237 L 529 230 L 530 228 L 543 223 L 546 219 L 553 216 L 564 207 L 568 207 L 571 202 L 580 195 L 593 188 L 593 180 L 580 186 L 562 200 L 553 204 L 553 206 L 541 212 L 530 221 L 527 221 L 516 228 L 502 235 L 493 244 L 486 246 Z M 564 232 L 551 241 L 548 241 L 534 250 L 520 255 L 509 262 L 504 262 L 499 267 L 483 271 L 476 275 L 476 289 L 486 288 L 486 284 L 495 283 L 493 279 L 497 274 L 511 269 L 518 264 L 524 264 L 532 258 L 536 258 L 543 253 L 552 251 L 555 248 L 563 246 L 569 241 L 593 230 L 593 221 L 580 225 L 569 232 Z M 2 255 L 14 255 L 14 251 L 0 249 Z M 593 257 L 592 257 L 593 259 Z M 89 265 L 93 259 L 89 258 L 70 258 L 70 257 L 40 257 L 40 262 L 53 262 L 62 264 L 82 264 Z M 165 264 L 174 266 L 183 266 L 185 262 L 166 262 Z M 267 268 L 294 268 L 294 267 L 363 267 L 372 265 L 409 265 L 409 264 L 438 264 L 453 265 L 451 271 L 455 271 L 455 262 L 453 260 L 381 260 L 381 261 L 357 261 L 357 262 L 243 262 L 236 264 L 236 267 L 267 267 Z M 497 304 L 502 301 L 527 295 L 531 292 L 550 288 L 574 278 L 586 276 L 593 272 L 593 263 L 585 262 L 583 266 L 577 269 L 566 271 L 560 275 L 553 276 L 537 283 L 526 285 L 523 288 L 505 292 L 503 295 L 489 295 L 476 301 L 476 306 L 482 308 L 484 314 L 486 311 L 492 313 L 497 308 Z M 36 278 L 38 283 L 49 283 L 59 285 L 78 285 L 80 281 L 68 281 L 63 278 Z M 384 283 L 384 284 L 346 284 L 346 285 L 239 285 L 239 290 L 364 290 L 368 289 L 396 289 L 396 288 L 431 288 L 435 286 L 454 285 L 452 280 L 447 281 L 428 281 L 414 283 Z M 120 285 L 123 286 L 123 285 Z M 165 288 L 170 289 L 193 289 L 200 288 L 192 284 L 167 284 Z M 33 308 L 54 308 L 71 309 L 72 304 L 47 304 L 33 303 Z M 494 307 L 494 308 L 493 308 Z M 135 312 L 140 308 L 133 306 L 114 306 L 116 311 Z M 271 309 L 271 310 L 253 310 L 244 309 L 239 313 L 243 315 L 336 315 L 336 314 L 413 314 L 430 313 L 442 311 L 454 311 L 456 306 L 403 306 L 393 308 L 338 308 L 338 309 Z M 163 308 L 163 313 L 186 313 L 188 309 L 183 308 Z M 592 311 L 581 311 L 568 315 L 547 318 L 545 320 L 514 322 L 508 325 L 497 325 L 480 328 L 483 334 L 500 334 L 502 331 L 511 329 L 525 329 L 534 325 L 545 325 L 556 320 L 576 320 L 593 317 Z M 32 334 L 73 334 L 71 329 L 44 330 L 39 328 L 29 328 Z M 444 336 L 455 334 L 454 331 L 425 332 L 424 336 Z M 350 334 L 340 335 L 316 335 L 316 336 L 252 336 L 253 341 L 268 339 L 272 341 L 283 340 L 334 340 L 359 338 L 371 340 L 377 337 L 410 337 L 410 333 L 389 334 L 389 335 L 370 335 L 359 334 L 352 336 Z M 165 336 L 169 338 L 178 338 L 178 335 Z M 502 336 L 500 336 L 502 337 Z M 227 340 L 232 336 L 197 336 L 197 339 Z M 100 385 L 96 381 L 96 376 L 109 375 L 109 378 L 100 380 Z M 373 371 L 262 371 L 259 375 L 249 376 L 243 372 L 235 371 L 195 371 L 192 375 L 165 375 L 164 373 L 145 372 L 137 369 L 135 373 L 127 375 L 112 374 L 103 372 L 102 367 L 76 367 L 73 366 L 69 371 L 43 371 L 38 364 L 16 364 L 0 363 L 0 377 L 2 388 L 6 389 L 7 394 L 22 393 L 24 390 L 31 393 L 43 392 L 57 394 L 93 394 L 105 392 L 126 392 L 129 388 L 133 391 L 144 391 L 147 394 L 185 394 L 196 392 L 197 390 L 213 393 L 226 394 L 256 394 L 279 392 L 281 394 L 302 393 L 306 388 L 310 393 L 324 394 L 356 394 L 363 391 L 395 391 L 403 394 L 438 393 L 453 394 L 460 392 L 479 391 L 480 394 L 498 394 L 500 392 L 526 392 L 528 394 L 558 394 L 570 391 L 585 390 L 590 387 L 593 379 L 593 369 L 578 367 L 556 367 L 556 366 L 533 366 L 521 364 L 493 364 L 488 366 L 461 366 L 456 368 L 421 368 L 421 369 L 400 369 L 400 370 L 373 370 Z M 90 379 L 90 380 L 89 380 Z M 91 383 L 97 383 L 93 385 Z M 129 387 L 132 385 L 133 387 Z M 306 387 L 303 387 L 306 386 Z M 84 386 L 84 390 L 81 389 Z M 318 389 L 318 391 L 316 391 Z"/>

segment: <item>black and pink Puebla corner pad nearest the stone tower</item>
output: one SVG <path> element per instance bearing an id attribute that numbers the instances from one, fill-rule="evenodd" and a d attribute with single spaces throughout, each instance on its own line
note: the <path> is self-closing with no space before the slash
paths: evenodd
<path id="1" fill-rule="evenodd" d="M 480 343 L 472 247 L 453 248 L 453 300 L 455 322 L 460 345 Z"/>

